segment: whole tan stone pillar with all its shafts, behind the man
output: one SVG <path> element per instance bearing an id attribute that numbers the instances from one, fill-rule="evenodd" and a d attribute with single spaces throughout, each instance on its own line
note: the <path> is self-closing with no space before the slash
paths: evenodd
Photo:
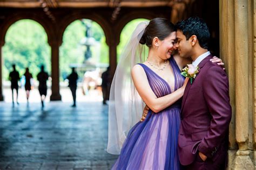
<path id="1" fill-rule="evenodd" d="M 219 1 L 220 56 L 226 63 L 232 105 L 228 169 L 254 169 L 251 3 Z"/>

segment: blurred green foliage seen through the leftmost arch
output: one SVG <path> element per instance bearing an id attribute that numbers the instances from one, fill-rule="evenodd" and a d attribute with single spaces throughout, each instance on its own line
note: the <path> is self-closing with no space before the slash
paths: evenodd
<path id="1" fill-rule="evenodd" d="M 30 19 L 17 21 L 10 26 L 5 36 L 3 78 L 8 79 L 12 64 L 16 64 L 20 76 L 29 67 L 33 77 L 36 77 L 42 64 L 50 72 L 50 57 L 44 28 Z"/>

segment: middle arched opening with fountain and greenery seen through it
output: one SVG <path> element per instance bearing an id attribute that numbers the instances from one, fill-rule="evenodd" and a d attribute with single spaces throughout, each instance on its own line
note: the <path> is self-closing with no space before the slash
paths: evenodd
<path id="1" fill-rule="evenodd" d="M 76 68 L 78 74 L 77 101 L 102 101 L 100 87 L 102 79 L 100 77 L 109 66 L 110 58 L 109 46 L 106 44 L 106 36 L 102 27 L 91 19 L 76 19 L 66 27 L 62 42 L 59 47 L 62 101 L 66 102 L 71 99 L 65 94 L 67 94 L 68 83 L 66 78 L 72 67 Z"/>

